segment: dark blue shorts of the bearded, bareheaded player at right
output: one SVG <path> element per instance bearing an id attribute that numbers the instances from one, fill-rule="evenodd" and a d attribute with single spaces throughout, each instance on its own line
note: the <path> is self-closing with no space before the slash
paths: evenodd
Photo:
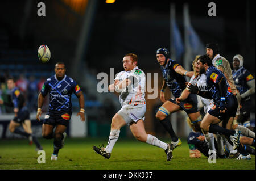
<path id="1" fill-rule="evenodd" d="M 223 121 L 228 121 L 230 117 L 236 117 L 237 112 L 237 98 L 232 94 L 226 98 L 226 112 L 220 113 L 220 109 L 218 108 L 218 104 L 215 104 L 208 113 L 214 117 L 218 117 L 218 119 Z"/>

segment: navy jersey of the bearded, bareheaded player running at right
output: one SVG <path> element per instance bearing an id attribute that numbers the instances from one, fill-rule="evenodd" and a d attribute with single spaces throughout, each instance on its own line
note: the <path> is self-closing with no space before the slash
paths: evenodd
<path id="1" fill-rule="evenodd" d="M 207 69 L 205 75 L 207 77 L 206 82 L 207 82 L 208 90 L 213 94 L 212 98 L 214 100 L 214 103 L 217 103 L 217 104 L 220 103 L 221 95 L 220 95 L 220 89 L 218 87 L 218 83 L 220 82 L 221 78 L 224 78 L 224 81 L 226 83 L 227 90 L 226 90 L 225 97 L 232 94 L 229 83 L 226 81 L 225 75 L 220 70 L 218 70 L 214 66 L 210 66 Z"/>

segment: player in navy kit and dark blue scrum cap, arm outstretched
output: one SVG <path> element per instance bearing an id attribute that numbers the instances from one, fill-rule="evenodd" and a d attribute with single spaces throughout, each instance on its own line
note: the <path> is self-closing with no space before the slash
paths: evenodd
<path id="1" fill-rule="evenodd" d="M 168 116 L 179 110 L 184 110 L 192 124 L 200 131 L 201 116 L 197 108 L 197 97 L 195 94 L 188 96 L 188 99 L 181 100 L 179 104 L 175 102 L 175 99 L 181 95 L 181 92 L 185 89 L 187 81 L 184 75 L 192 77 L 193 72 L 187 72 L 180 64 L 169 58 L 169 51 L 166 48 L 159 48 L 156 50 L 156 59 L 160 64 L 163 73 L 163 86 L 160 91 L 160 99 L 164 103 L 156 113 L 156 119 L 160 121 L 166 131 L 170 134 L 172 144 L 174 148 L 181 145 L 181 141 L 177 138 L 174 130 L 172 129 L 171 121 Z M 164 91 L 166 87 L 169 87 L 174 98 L 166 100 L 164 97 Z"/>

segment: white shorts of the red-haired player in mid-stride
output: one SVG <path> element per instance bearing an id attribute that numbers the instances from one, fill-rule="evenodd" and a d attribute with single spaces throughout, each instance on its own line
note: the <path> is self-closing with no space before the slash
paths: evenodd
<path id="1" fill-rule="evenodd" d="M 128 125 L 130 125 L 131 122 L 136 123 L 140 119 L 145 121 L 145 112 L 146 104 L 137 104 L 136 106 L 133 104 L 126 104 L 117 113 L 123 117 Z"/>

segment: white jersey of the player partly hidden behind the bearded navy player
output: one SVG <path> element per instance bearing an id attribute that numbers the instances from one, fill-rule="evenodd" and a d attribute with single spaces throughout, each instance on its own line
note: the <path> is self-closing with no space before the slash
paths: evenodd
<path id="1" fill-rule="evenodd" d="M 191 83 L 194 86 L 197 85 L 197 87 L 200 91 L 208 91 L 206 79 L 207 79 L 207 77 L 205 76 L 205 74 L 198 75 L 197 77 L 195 77 L 195 75 L 193 75 L 191 77 L 189 83 Z M 200 96 L 200 98 L 202 100 L 204 108 L 208 109 L 208 106 L 210 105 L 210 103 L 213 103 L 213 99 L 206 99 L 201 96 Z"/>

